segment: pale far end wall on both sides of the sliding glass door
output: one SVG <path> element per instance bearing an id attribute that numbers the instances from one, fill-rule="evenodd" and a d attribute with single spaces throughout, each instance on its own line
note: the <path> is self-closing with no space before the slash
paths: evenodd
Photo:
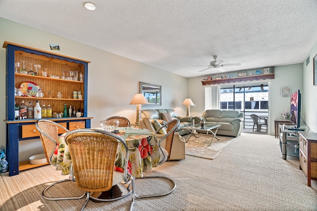
<path id="1" fill-rule="evenodd" d="M 275 79 L 272 79 L 269 91 L 269 133 L 271 135 L 274 135 L 275 133 L 274 120 L 281 119 L 281 113 L 285 111 L 286 108 L 290 108 L 290 97 L 281 97 L 281 88 L 283 86 L 289 86 L 291 87 L 292 92 L 295 92 L 297 89 L 303 89 L 302 63 L 277 66 L 274 69 Z M 201 82 L 203 78 L 205 78 L 205 76 L 188 79 L 188 97 L 197 104 L 196 107 L 191 107 L 192 116 L 201 116 L 205 111 L 205 89 Z M 304 92 L 302 95 L 305 95 Z"/>

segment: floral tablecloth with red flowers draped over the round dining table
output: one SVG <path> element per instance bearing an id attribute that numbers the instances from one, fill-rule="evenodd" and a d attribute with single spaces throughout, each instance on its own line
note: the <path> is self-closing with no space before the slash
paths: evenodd
<path id="1" fill-rule="evenodd" d="M 143 172 L 151 172 L 152 167 L 159 163 L 159 144 L 154 133 L 148 129 L 134 127 L 117 128 L 129 148 L 128 171 L 134 177 L 142 177 Z M 51 164 L 56 170 L 61 170 L 62 175 L 70 173 L 71 158 L 68 146 L 65 144 L 63 133 L 59 137 Z M 114 170 L 123 172 L 125 149 L 119 143 L 117 148 Z"/>

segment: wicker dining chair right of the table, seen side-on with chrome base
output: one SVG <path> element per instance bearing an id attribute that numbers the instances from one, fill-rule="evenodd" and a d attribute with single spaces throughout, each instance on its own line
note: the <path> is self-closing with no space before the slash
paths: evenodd
<path id="1" fill-rule="evenodd" d="M 174 120 L 171 120 L 171 121 L 167 122 L 166 124 L 162 125 L 161 127 L 159 127 L 159 129 L 157 129 L 156 134 L 158 134 L 159 130 L 162 129 L 163 127 L 164 128 L 167 127 L 166 134 L 159 139 L 160 158 L 159 158 L 158 165 L 161 165 L 165 161 L 169 160 L 169 155 L 170 155 L 170 152 L 171 152 L 173 139 L 174 139 L 174 133 L 175 133 L 175 130 L 177 129 L 178 126 L 179 126 L 179 120 L 178 119 L 174 119 Z M 165 148 L 163 148 L 161 146 L 162 145 L 162 141 L 165 141 Z M 133 187 L 132 188 L 133 197 L 136 197 L 136 198 L 148 198 L 148 197 L 165 196 L 165 195 L 168 195 L 168 194 L 172 193 L 176 189 L 176 183 L 170 177 L 167 177 L 167 176 L 143 176 L 143 177 L 137 178 L 137 179 L 146 179 L 146 178 L 163 178 L 163 179 L 166 179 L 166 180 L 168 180 L 168 181 L 170 181 L 172 183 L 172 188 L 170 188 L 169 191 L 166 191 L 166 192 L 163 192 L 163 193 L 139 196 L 139 195 L 137 195 L 135 193 L 134 187 Z M 134 183 L 133 183 L 133 185 L 134 185 Z M 155 187 L 155 185 L 153 185 L 153 187 Z"/>

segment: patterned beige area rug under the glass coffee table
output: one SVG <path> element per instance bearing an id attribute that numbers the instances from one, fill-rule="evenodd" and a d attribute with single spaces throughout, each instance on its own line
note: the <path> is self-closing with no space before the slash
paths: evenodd
<path id="1" fill-rule="evenodd" d="M 192 155 L 211 160 L 215 159 L 223 148 L 225 148 L 232 140 L 236 139 L 235 137 L 217 135 L 217 138 L 220 140 L 214 138 L 211 145 L 207 147 L 210 144 L 213 135 L 196 134 L 196 136 L 198 138 L 192 135 L 188 141 L 187 139 L 189 138 L 189 134 L 183 136 L 187 141 L 186 155 Z"/>

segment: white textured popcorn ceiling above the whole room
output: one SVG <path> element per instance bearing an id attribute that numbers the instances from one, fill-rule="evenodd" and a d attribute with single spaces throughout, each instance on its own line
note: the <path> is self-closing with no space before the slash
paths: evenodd
<path id="1" fill-rule="evenodd" d="M 241 63 L 227 71 L 302 63 L 317 41 L 317 0 L 84 1 L 0 0 L 0 17 L 188 78 L 216 73 L 193 67 L 212 55 Z"/>

